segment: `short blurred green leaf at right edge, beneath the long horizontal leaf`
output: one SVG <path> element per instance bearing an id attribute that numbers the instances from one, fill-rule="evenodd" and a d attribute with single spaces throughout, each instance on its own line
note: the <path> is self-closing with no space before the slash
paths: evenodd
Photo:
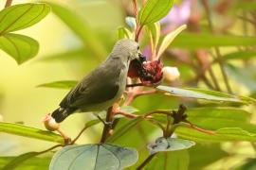
<path id="1" fill-rule="evenodd" d="M 252 59 L 256 57 L 256 51 L 254 50 L 247 50 L 247 51 L 238 51 L 229 53 L 227 55 L 223 55 L 222 59 L 229 60 L 229 59 Z"/>

